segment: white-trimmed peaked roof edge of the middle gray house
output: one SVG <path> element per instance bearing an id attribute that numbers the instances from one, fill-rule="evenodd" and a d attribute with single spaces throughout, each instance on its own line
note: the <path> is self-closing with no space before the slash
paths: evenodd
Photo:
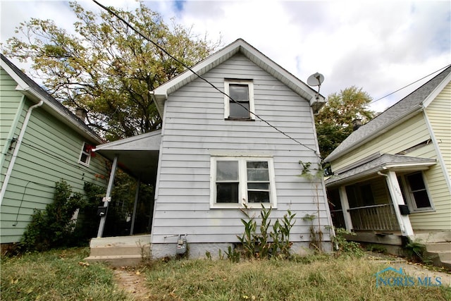
<path id="1" fill-rule="evenodd" d="M 266 72 L 273 75 L 274 78 L 277 78 L 290 87 L 291 90 L 299 94 L 299 96 L 306 99 L 314 111 L 321 109 L 321 106 L 325 103 L 324 97 L 321 94 L 319 95 L 319 99 L 316 99 L 315 90 L 245 42 L 244 39 L 237 39 L 235 42 L 217 51 L 215 54 L 212 54 L 203 61 L 192 66 L 191 69 L 202 76 L 237 53 L 243 54 L 247 59 L 266 70 Z M 180 87 L 187 85 L 187 83 L 192 82 L 192 80 L 195 80 L 196 78 L 197 75 L 192 73 L 191 70 L 185 70 L 183 73 L 180 73 L 180 75 L 165 82 L 151 92 L 161 117 L 163 117 L 164 103 L 166 102 L 166 99 L 168 99 L 168 95 L 175 90 L 178 90 Z"/>

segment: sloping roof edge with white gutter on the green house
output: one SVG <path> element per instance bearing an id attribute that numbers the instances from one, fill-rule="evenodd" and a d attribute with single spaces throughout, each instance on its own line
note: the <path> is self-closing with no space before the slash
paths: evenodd
<path id="1" fill-rule="evenodd" d="M 3 54 L 0 54 L 0 57 L 1 68 L 3 68 L 6 73 L 8 73 L 8 75 L 11 76 L 11 78 L 13 78 L 13 80 L 15 80 L 18 84 L 16 90 L 25 94 L 33 102 L 39 102 L 42 100 L 44 102 L 42 108 L 51 113 L 51 115 L 56 117 L 59 121 L 62 121 L 70 128 L 73 128 L 73 130 L 80 133 L 80 135 L 88 139 L 90 142 L 103 142 L 101 137 L 91 130 L 80 118 L 75 116 L 75 114 L 69 111 L 66 106 L 63 106 L 63 104 L 54 99 L 54 97 L 42 89 L 42 87 L 37 85 L 35 81 L 17 68 L 16 65 L 6 59 Z"/>

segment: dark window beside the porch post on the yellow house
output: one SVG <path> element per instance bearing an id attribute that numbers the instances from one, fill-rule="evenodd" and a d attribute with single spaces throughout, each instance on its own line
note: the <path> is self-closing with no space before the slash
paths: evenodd
<path id="1" fill-rule="evenodd" d="M 433 209 L 421 171 L 398 177 L 398 182 L 400 182 L 402 197 L 412 211 Z"/>

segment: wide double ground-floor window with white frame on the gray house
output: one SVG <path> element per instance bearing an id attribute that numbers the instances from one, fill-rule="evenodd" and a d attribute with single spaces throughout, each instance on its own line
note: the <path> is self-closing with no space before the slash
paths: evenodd
<path id="1" fill-rule="evenodd" d="M 211 207 L 276 207 L 272 158 L 212 157 Z"/>

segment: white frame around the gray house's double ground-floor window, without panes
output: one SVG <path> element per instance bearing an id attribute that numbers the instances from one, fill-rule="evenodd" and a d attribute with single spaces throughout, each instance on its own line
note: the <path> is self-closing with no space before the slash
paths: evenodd
<path id="1" fill-rule="evenodd" d="M 216 161 L 237 161 L 238 162 L 238 202 L 237 203 L 216 203 Z M 269 202 L 268 203 L 249 203 L 247 202 L 247 161 L 266 161 L 268 162 L 269 174 Z M 211 156 L 210 161 L 210 208 L 211 209 L 277 209 L 276 199 L 276 178 L 274 176 L 274 161 L 266 156 Z"/>

